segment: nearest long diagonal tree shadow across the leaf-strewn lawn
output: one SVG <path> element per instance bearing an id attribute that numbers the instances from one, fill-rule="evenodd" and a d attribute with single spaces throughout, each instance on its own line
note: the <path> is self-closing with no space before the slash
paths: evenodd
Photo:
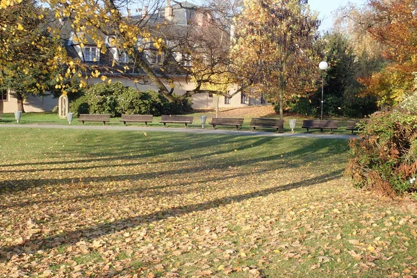
<path id="1" fill-rule="evenodd" d="M 218 208 L 219 206 L 224 206 L 234 202 L 243 202 L 247 199 L 251 199 L 254 197 L 265 197 L 271 194 L 279 193 L 281 191 L 313 186 L 318 183 L 325 183 L 327 181 L 332 181 L 340 177 L 341 170 L 337 170 L 328 174 L 322 174 L 321 176 L 315 177 L 313 179 L 306 179 L 303 181 L 297 181 L 295 183 L 289 183 L 285 186 L 275 186 L 273 188 L 258 190 L 252 193 L 245 193 L 241 195 L 213 199 L 199 204 L 177 206 L 174 208 L 165 209 L 164 211 L 149 213 L 147 215 L 138 215 L 136 217 L 115 220 L 109 223 L 95 224 L 90 227 L 77 229 L 75 231 L 64 231 L 62 234 L 55 236 L 42 237 L 41 235 L 39 235 L 38 237 L 33 238 L 31 240 L 27 240 L 25 243 L 22 244 L 1 247 L 0 261 L 8 261 L 8 259 L 10 259 L 11 256 L 15 254 L 22 254 L 22 252 L 24 252 L 24 247 L 28 245 L 31 245 L 32 252 L 37 252 L 38 250 L 51 249 L 54 246 L 57 246 L 57 243 L 59 243 L 59 245 L 72 245 L 74 243 L 79 242 L 80 240 L 94 240 L 95 238 L 99 238 L 100 236 L 114 234 L 115 232 L 124 231 L 125 229 L 129 229 L 131 227 L 138 227 L 141 224 L 158 222 L 160 220 L 185 215 L 187 213 L 195 211 L 206 211 L 211 208 Z"/>

